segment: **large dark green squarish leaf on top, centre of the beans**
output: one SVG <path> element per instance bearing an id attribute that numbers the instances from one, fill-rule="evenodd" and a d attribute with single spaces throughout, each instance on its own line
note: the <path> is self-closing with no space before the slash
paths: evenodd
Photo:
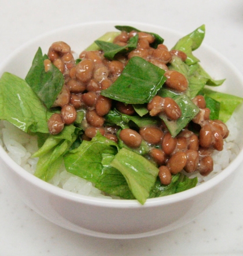
<path id="1" fill-rule="evenodd" d="M 101 95 L 125 104 L 148 103 L 163 86 L 164 72 L 141 57 L 132 57 L 119 78 Z"/>

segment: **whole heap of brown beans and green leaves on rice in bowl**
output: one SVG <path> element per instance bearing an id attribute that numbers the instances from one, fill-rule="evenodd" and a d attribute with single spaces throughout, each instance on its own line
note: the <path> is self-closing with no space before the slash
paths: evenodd
<path id="1" fill-rule="evenodd" d="M 192 54 L 204 25 L 171 50 L 157 34 L 116 28 L 77 58 L 58 41 L 47 55 L 38 49 L 25 79 L 3 74 L 0 118 L 35 137 L 36 152 L 26 157 L 38 160 L 36 177 L 144 204 L 193 188 L 213 171 L 213 155 L 229 138 L 225 122 L 242 98 L 205 87 L 224 80 L 212 79 Z M 5 126 L 3 134 L 15 133 Z"/>

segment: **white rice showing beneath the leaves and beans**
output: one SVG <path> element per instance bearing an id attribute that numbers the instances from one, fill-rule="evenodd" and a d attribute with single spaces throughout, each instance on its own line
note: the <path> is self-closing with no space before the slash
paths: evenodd
<path id="1" fill-rule="evenodd" d="M 240 127 L 243 125 L 243 120 L 240 118 L 242 111 L 243 106 L 237 109 L 237 111 L 234 112 L 234 115 L 231 116 L 230 120 L 226 123 L 230 130 L 230 134 L 224 141 L 223 151 L 215 151 L 213 153 L 214 166 L 212 173 L 207 177 L 202 177 L 197 172 L 190 175 L 190 177 L 198 177 L 198 184 L 201 184 L 218 174 L 229 165 L 235 156 L 237 156 L 242 145 L 242 136 L 240 135 Z M 31 174 L 34 174 L 38 158 L 31 158 L 31 155 L 38 149 L 36 139 L 33 139 L 32 136 L 19 130 L 11 123 L 0 121 L 0 145 L 5 148 L 10 158 L 17 164 Z M 49 183 L 67 191 L 79 193 L 80 195 L 94 196 L 98 198 L 116 198 L 104 195 L 104 193 L 95 188 L 91 182 L 68 173 L 67 170 L 65 170 L 64 164 L 62 164 L 60 170 L 57 171 Z"/>

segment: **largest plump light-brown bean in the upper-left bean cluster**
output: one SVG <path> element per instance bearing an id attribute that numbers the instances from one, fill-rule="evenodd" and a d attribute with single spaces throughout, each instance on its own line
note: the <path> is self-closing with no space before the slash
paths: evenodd
<path id="1" fill-rule="evenodd" d="M 94 63 L 88 58 L 84 58 L 78 65 L 76 65 L 76 78 L 86 83 L 90 81 L 94 72 Z"/>

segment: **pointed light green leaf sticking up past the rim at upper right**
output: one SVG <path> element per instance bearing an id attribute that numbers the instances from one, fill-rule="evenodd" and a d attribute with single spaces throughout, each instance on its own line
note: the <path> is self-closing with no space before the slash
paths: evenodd
<path id="1" fill-rule="evenodd" d="M 175 44 L 172 49 L 181 50 L 185 52 L 187 55 L 185 63 L 187 65 L 192 65 L 198 63 L 198 58 L 195 57 L 192 52 L 196 50 L 202 43 L 205 36 L 205 25 L 201 25 L 192 33 L 183 36 L 183 38 L 179 39 L 179 41 Z"/>

